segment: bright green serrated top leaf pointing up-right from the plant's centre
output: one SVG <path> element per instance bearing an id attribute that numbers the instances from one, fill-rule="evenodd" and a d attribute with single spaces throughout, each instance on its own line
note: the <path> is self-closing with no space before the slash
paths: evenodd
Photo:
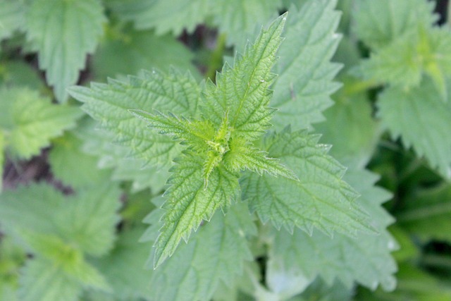
<path id="1" fill-rule="evenodd" d="M 254 44 L 247 45 L 233 68 L 226 64 L 216 75 L 216 85 L 208 81 L 204 90 L 202 113 L 219 128 L 225 112 L 235 135 L 255 140 L 271 125 L 274 109 L 268 107 L 275 75 L 271 67 L 282 38 L 286 14 L 277 18 L 268 30 L 262 30 Z"/>

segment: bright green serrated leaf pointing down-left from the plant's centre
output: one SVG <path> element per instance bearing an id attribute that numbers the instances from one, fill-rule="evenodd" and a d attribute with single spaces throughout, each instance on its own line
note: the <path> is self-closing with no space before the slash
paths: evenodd
<path id="1" fill-rule="evenodd" d="M 168 180 L 171 186 L 165 192 L 166 212 L 161 219 L 164 224 L 155 242 L 155 268 L 175 252 L 182 238 L 190 238 L 192 229 L 196 231 L 202 221 L 209 221 L 216 209 L 227 210 L 237 200 L 239 190 L 239 174 L 223 166 L 211 171 L 205 187 L 204 162 L 192 152 L 186 152 L 176 162 Z"/>

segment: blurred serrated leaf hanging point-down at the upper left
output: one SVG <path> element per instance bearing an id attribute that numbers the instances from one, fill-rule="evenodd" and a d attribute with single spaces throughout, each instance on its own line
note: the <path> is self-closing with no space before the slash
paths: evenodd
<path id="1" fill-rule="evenodd" d="M 39 56 L 39 68 L 46 70 L 56 99 L 66 102 L 66 88 L 75 84 L 92 53 L 105 23 L 98 0 L 37 0 L 27 11 L 27 39 Z"/>

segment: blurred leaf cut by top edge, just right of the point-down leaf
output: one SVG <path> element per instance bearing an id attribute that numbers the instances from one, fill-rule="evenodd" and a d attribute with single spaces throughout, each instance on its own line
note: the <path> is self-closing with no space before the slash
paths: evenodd
<path id="1" fill-rule="evenodd" d="M 112 0 L 109 6 L 121 19 L 132 21 L 139 30 L 155 28 L 157 35 L 172 32 L 174 36 L 184 29 L 193 32 L 211 9 L 209 0 Z"/>

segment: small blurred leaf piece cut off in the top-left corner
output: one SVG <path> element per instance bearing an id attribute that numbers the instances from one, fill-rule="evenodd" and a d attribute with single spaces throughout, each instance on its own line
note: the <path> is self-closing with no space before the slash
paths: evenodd
<path id="1" fill-rule="evenodd" d="M 16 30 L 23 30 L 25 4 L 23 0 L 0 0 L 0 41 L 8 39 Z"/>

